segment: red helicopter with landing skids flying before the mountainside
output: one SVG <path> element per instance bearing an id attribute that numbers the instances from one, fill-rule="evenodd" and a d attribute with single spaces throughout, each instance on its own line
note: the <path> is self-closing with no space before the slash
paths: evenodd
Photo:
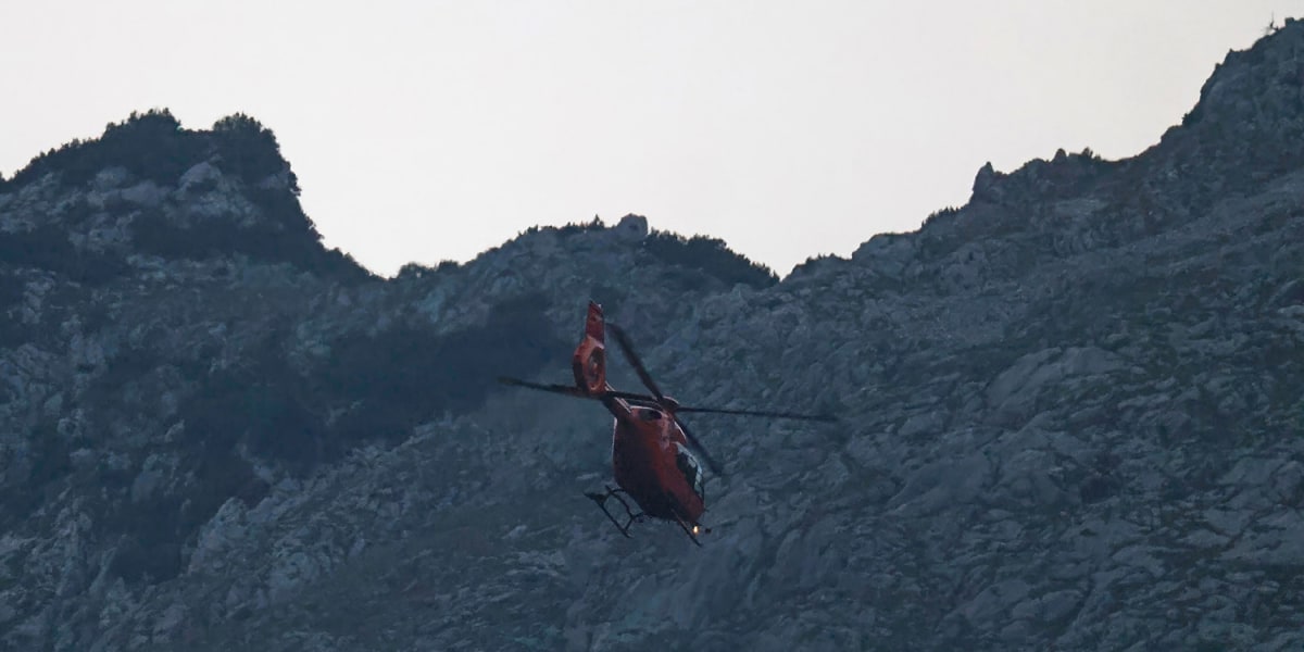
<path id="1" fill-rule="evenodd" d="M 606 382 L 605 331 L 610 330 L 621 352 L 639 374 L 639 379 L 651 394 L 617 391 Z M 703 492 L 702 466 L 689 451 L 696 449 L 707 467 L 715 475 L 722 475 L 721 467 L 707 452 L 692 430 L 679 420 L 681 413 L 715 412 L 722 415 L 764 416 L 777 419 L 803 419 L 812 421 L 835 421 L 827 415 L 799 415 L 794 412 L 772 412 L 759 409 L 726 409 L 686 407 L 666 396 L 652 381 L 647 368 L 629 335 L 614 323 L 602 318 L 602 308 L 593 301 L 588 304 L 588 319 L 584 322 L 584 336 L 571 359 L 575 385 L 545 385 L 519 378 L 499 378 L 505 385 L 549 391 L 580 399 L 600 400 L 615 417 L 612 433 L 612 472 L 617 486 L 606 486 L 606 493 L 585 493 L 593 499 L 606 518 L 615 524 L 626 537 L 630 526 L 647 518 L 678 523 L 694 544 L 698 535 L 711 532 L 700 523 L 707 510 Z M 629 496 L 638 505 L 635 512 L 621 494 Z M 608 511 L 606 501 L 615 498 L 625 507 L 625 523 Z"/>

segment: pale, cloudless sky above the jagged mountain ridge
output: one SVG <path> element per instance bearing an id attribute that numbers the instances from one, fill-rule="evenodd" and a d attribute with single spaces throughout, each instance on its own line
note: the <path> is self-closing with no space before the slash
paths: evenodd
<path id="1" fill-rule="evenodd" d="M 0 0 L 0 171 L 132 111 L 276 133 L 373 271 L 533 224 L 721 237 L 780 275 L 985 162 L 1134 155 L 1304 0 Z"/>

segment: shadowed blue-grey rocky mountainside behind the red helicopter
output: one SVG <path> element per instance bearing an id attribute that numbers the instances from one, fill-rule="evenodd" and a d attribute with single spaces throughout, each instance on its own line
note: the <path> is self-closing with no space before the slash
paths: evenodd
<path id="1" fill-rule="evenodd" d="M 642 218 L 373 279 L 253 136 L 34 164 L 0 186 L 0 638 L 1299 649 L 1301 51 L 1287 23 L 1145 154 L 985 168 L 777 284 Z M 589 297 L 686 403 L 842 422 L 692 419 L 713 533 L 626 540 L 583 497 L 604 412 L 492 385 L 565 381 Z"/>

